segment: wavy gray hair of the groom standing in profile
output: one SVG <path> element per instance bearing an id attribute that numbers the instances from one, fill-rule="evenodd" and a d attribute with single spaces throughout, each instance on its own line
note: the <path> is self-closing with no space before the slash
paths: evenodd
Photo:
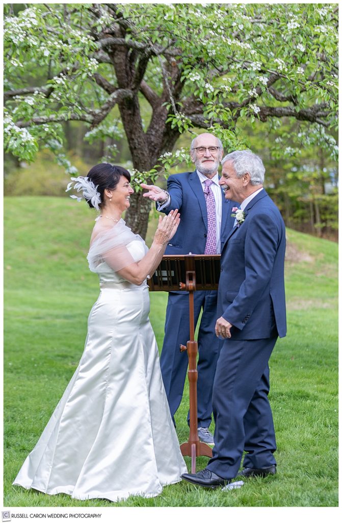
<path id="1" fill-rule="evenodd" d="M 221 165 L 226 162 L 232 162 L 238 178 L 241 178 L 245 173 L 249 173 L 252 185 L 264 183 L 265 167 L 263 161 L 252 151 L 247 149 L 245 151 L 233 151 L 222 158 Z"/>

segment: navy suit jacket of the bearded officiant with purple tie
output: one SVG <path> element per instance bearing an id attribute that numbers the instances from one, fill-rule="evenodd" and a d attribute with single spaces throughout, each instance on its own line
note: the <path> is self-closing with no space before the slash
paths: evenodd
<path id="1" fill-rule="evenodd" d="M 162 212 L 168 214 L 179 209 L 181 221 L 177 232 L 168 244 L 165 254 L 204 254 L 207 229 L 207 206 L 203 187 L 196 171 L 172 174 L 168 178 L 171 203 Z M 225 235 L 232 229 L 232 207 L 237 203 L 226 200 L 222 191 L 221 246 Z"/>

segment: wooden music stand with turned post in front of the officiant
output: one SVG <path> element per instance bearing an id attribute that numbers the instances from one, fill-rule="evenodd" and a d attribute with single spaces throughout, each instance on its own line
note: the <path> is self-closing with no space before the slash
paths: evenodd
<path id="1" fill-rule="evenodd" d="M 179 291 L 189 293 L 190 340 L 180 350 L 187 350 L 189 360 L 188 380 L 190 392 L 190 435 L 181 445 L 183 456 L 191 456 L 191 472 L 196 472 L 196 456 L 213 456 L 211 447 L 199 441 L 197 434 L 197 353 L 194 322 L 194 292 L 217 290 L 220 277 L 219 255 L 170 255 L 163 256 L 155 274 L 148 280 L 150 291 Z M 185 283 L 184 283 L 185 281 Z"/>

